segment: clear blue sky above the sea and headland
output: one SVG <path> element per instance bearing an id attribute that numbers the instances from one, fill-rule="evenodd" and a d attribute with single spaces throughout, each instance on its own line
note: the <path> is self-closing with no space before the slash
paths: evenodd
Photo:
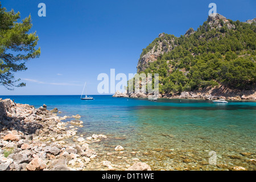
<path id="1" fill-rule="evenodd" d="M 46 17 L 38 16 L 41 2 Z M 86 93 L 98 94 L 100 73 L 110 75 L 111 68 L 115 74 L 135 73 L 143 48 L 162 32 L 180 36 L 190 27 L 196 30 L 207 20 L 211 2 L 226 18 L 256 17 L 255 0 L 2 0 L 2 7 L 19 11 L 21 19 L 31 14 L 41 55 L 15 73 L 26 87 L 0 86 L 0 95 L 81 94 L 85 81 Z"/>

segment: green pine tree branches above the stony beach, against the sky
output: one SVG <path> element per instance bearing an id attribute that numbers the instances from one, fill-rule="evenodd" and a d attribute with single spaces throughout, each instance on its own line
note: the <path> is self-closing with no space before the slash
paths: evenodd
<path id="1" fill-rule="evenodd" d="M 28 33 L 32 27 L 31 16 L 18 22 L 20 13 L 14 10 L 6 11 L 0 4 L 0 85 L 7 89 L 14 86 L 25 86 L 20 79 L 16 80 L 14 73 L 24 71 L 26 61 L 40 56 L 40 47 L 36 32 Z"/>

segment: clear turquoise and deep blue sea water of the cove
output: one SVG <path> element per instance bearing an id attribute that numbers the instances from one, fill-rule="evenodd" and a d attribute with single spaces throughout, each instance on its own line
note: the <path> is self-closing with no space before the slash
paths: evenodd
<path id="1" fill-rule="evenodd" d="M 213 104 L 203 100 L 150 101 L 139 98 L 93 96 L 0 96 L 35 107 L 57 107 L 63 115 L 80 114 L 84 127 L 80 134 L 105 134 L 108 139 L 94 143 L 99 156 L 121 145 L 126 160 L 138 158 L 153 169 L 226 169 L 242 166 L 255 170 L 256 102 L 229 101 Z M 209 165 L 209 151 L 217 154 L 217 164 Z M 250 155 L 241 155 L 241 152 Z M 189 159 L 189 160 L 185 160 Z M 185 161 L 184 161 L 185 160 Z M 88 167 L 88 169 L 90 169 Z"/>

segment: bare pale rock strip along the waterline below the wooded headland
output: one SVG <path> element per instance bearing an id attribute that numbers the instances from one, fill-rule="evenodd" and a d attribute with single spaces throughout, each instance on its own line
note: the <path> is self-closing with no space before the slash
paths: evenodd
<path id="1" fill-rule="evenodd" d="M 113 97 L 131 97 L 131 98 L 149 98 L 151 94 L 144 93 L 127 93 L 115 92 Z M 231 90 L 224 86 L 214 88 L 204 88 L 194 92 L 181 92 L 179 94 L 158 94 L 158 98 L 177 98 L 177 99 L 197 99 L 197 100 L 213 100 L 224 98 L 225 100 L 251 100 L 256 101 L 255 90 Z"/>

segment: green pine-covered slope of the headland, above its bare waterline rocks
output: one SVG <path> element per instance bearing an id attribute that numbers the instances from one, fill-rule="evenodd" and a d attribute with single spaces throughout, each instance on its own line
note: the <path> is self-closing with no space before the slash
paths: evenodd
<path id="1" fill-rule="evenodd" d="M 207 86 L 224 85 L 249 90 L 256 86 L 256 23 L 209 16 L 196 31 L 179 38 L 162 34 L 143 49 L 138 73 L 159 73 L 160 93 L 179 93 Z M 142 57 L 162 47 L 157 60 L 142 64 Z M 164 50 L 164 49 L 163 49 Z"/>

